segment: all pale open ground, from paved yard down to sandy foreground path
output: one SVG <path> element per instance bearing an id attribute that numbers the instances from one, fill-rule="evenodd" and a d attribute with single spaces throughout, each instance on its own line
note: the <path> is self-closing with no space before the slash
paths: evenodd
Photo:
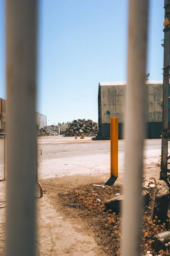
<path id="1" fill-rule="evenodd" d="M 38 256 L 97 256 L 108 251 L 94 225 L 85 217 L 83 209 L 65 205 L 68 191 L 88 184 L 105 184 L 110 177 L 110 142 L 74 140 L 65 137 L 40 137 L 38 148 L 39 179 L 44 189 L 43 198 L 37 201 L 37 255 Z M 124 141 L 119 142 L 119 178 L 124 173 Z M 147 140 L 144 148 L 144 172 L 159 177 L 161 140 Z M 40 153 L 40 152 L 39 152 Z M 0 175 L 3 176 L 3 140 L 0 140 Z M 4 201 L 6 182 L 0 183 L 0 199 Z M 100 199 L 100 198 L 99 198 Z M 5 248 L 6 204 L 0 207 L 0 255 Z M 76 211 L 75 211 L 76 210 Z M 97 225 L 96 225 L 97 226 Z M 96 235 L 97 233 L 97 235 Z M 98 235 L 100 237 L 98 237 Z M 100 241 L 99 241 L 100 240 Z"/>

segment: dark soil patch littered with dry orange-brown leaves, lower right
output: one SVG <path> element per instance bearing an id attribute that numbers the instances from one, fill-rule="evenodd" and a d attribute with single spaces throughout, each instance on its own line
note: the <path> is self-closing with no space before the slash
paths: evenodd
<path id="1" fill-rule="evenodd" d="M 152 248 L 153 236 L 166 231 L 166 225 L 161 224 L 156 216 L 154 220 L 152 219 L 154 190 L 155 188 L 152 187 L 147 189 L 151 200 L 143 209 L 141 255 L 167 256 L 170 255 L 168 249 L 156 253 Z M 61 204 L 67 209 L 69 209 L 68 207 L 75 209 L 74 211 L 77 212 L 75 214 L 78 214 L 93 228 L 97 243 L 102 245 L 108 256 L 121 255 L 121 216 L 111 210 L 105 211 L 105 202 L 116 193 L 122 194 L 122 186 L 105 186 L 105 189 L 103 189 L 91 184 L 72 189 L 67 195 L 59 194 Z M 101 201 L 98 201 L 98 198 Z"/>

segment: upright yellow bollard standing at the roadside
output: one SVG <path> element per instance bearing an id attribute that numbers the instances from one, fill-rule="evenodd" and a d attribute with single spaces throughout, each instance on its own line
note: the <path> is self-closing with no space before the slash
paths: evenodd
<path id="1" fill-rule="evenodd" d="M 118 118 L 111 118 L 111 177 L 118 176 Z"/>

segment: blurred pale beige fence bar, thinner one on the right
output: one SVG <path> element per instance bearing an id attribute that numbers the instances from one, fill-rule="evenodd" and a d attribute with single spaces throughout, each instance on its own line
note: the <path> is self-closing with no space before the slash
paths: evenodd
<path id="1" fill-rule="evenodd" d="M 122 256 L 139 256 L 149 0 L 129 0 Z"/>

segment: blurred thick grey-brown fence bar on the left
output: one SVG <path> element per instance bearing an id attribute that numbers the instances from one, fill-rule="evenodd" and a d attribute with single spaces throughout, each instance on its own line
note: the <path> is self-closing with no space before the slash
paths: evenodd
<path id="1" fill-rule="evenodd" d="M 7 256 L 35 256 L 37 0 L 6 0 Z"/>

